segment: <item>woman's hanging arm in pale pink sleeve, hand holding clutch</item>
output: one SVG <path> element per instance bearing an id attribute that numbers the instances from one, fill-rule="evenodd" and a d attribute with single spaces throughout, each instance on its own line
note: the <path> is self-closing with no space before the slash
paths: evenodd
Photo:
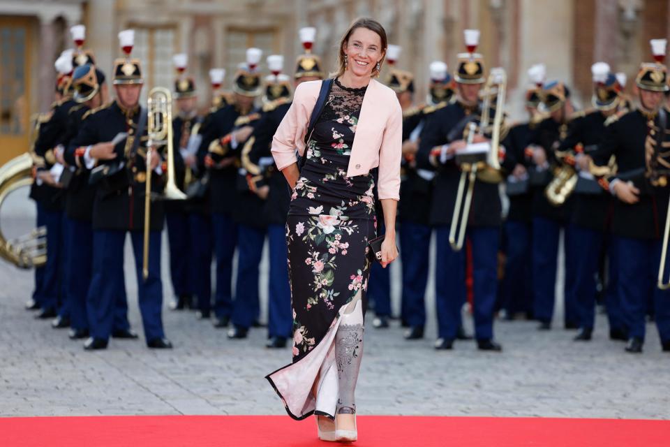
<path id="1" fill-rule="evenodd" d="M 400 200 L 400 163 L 403 147 L 403 111 L 393 96 L 394 108 L 384 129 L 379 149 L 378 193 L 384 210 L 386 233 L 382 242 L 382 267 L 398 257 L 396 247 L 396 209 Z"/>

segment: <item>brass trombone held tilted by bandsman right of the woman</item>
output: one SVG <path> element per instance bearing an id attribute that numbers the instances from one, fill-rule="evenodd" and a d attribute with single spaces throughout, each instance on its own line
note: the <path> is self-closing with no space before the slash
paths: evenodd
<path id="1" fill-rule="evenodd" d="M 468 123 L 467 147 L 473 147 L 472 140 L 475 132 L 484 135 L 489 128 L 491 100 L 496 96 L 496 115 L 493 117 L 493 129 L 491 129 L 491 142 L 484 143 L 488 146 L 486 152 L 466 152 L 456 154 L 456 163 L 461 166 L 461 179 L 459 189 L 456 192 L 456 203 L 452 215 L 452 225 L 449 228 L 449 244 L 455 251 L 463 249 L 463 241 L 466 238 L 466 228 L 470 217 L 470 204 L 472 203 L 472 192 L 475 189 L 475 180 L 482 182 L 498 183 L 502 180 L 500 173 L 500 131 L 502 129 L 502 118 L 505 111 L 505 87 L 507 75 L 502 68 L 493 68 L 489 78 L 484 85 L 484 101 L 482 101 L 482 117 L 479 120 L 479 129 L 475 122 Z M 466 191 L 466 180 L 468 189 Z M 465 196 L 463 196 L 463 191 Z M 461 213 L 462 208 L 462 213 Z M 460 225 L 459 225 L 460 224 Z"/>

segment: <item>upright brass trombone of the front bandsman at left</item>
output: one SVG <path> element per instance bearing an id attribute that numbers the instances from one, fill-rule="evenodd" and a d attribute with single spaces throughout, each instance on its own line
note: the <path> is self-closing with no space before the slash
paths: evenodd
<path id="1" fill-rule="evenodd" d="M 154 147 L 168 147 L 168 181 L 163 196 L 167 200 L 184 200 L 186 194 L 177 188 L 174 181 L 174 147 L 172 141 L 172 94 L 165 87 L 154 87 L 149 91 L 147 133 L 147 179 L 144 189 L 144 252 L 142 254 L 142 277 L 149 276 L 149 223 L 151 221 L 151 163 Z M 140 138 L 140 135 L 137 135 Z M 151 155 L 150 155 L 151 154 Z"/>

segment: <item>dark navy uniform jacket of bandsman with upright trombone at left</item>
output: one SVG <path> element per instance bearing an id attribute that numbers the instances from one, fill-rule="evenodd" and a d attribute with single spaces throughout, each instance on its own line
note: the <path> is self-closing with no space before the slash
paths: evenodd
<path id="1" fill-rule="evenodd" d="M 102 108 L 91 110 L 84 117 L 77 136 L 70 141 L 70 150 L 95 145 L 98 142 L 110 142 L 120 132 L 126 132 L 135 138 L 140 108 L 124 110 L 116 101 Z M 144 228 L 144 189 L 146 180 L 147 129 L 145 127 L 135 156 L 128 160 L 126 140 L 119 142 L 115 150 L 117 158 L 112 161 L 98 161 L 109 165 L 114 161 L 124 161 L 125 167 L 118 173 L 105 177 L 98 182 L 93 207 L 94 230 L 142 230 Z M 163 155 L 164 157 L 164 155 Z M 164 173 L 163 173 L 164 174 Z M 156 171 L 151 173 L 151 191 L 162 193 L 165 182 Z M 151 200 L 151 230 L 162 230 L 165 214 L 162 200 Z"/>

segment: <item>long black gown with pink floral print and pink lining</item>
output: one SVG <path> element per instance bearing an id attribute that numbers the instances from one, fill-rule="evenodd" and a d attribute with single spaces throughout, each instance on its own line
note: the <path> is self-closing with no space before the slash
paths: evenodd
<path id="1" fill-rule="evenodd" d="M 308 393 L 319 369 L 330 367 L 333 332 L 344 307 L 359 291 L 366 307 L 372 263 L 367 244 L 376 234 L 375 184 L 369 173 L 346 175 L 365 91 L 334 80 L 307 143 L 288 212 L 293 362 L 267 379 L 296 419 L 314 412 L 334 414 L 320 410 Z"/>

